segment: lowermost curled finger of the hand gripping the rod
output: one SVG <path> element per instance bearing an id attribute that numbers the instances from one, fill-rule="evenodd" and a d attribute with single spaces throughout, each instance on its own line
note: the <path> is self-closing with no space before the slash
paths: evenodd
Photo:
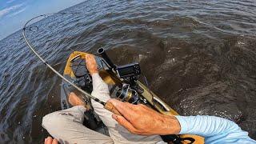
<path id="1" fill-rule="evenodd" d="M 122 117 L 120 115 L 117 115 L 117 114 L 112 114 L 112 118 L 114 118 L 114 120 L 116 120 L 121 126 L 124 126 L 131 133 L 133 133 L 133 134 L 137 134 L 138 133 L 138 130 L 136 130 L 134 128 L 134 126 L 130 122 L 128 122 L 126 120 L 126 118 L 124 118 L 124 117 Z"/>

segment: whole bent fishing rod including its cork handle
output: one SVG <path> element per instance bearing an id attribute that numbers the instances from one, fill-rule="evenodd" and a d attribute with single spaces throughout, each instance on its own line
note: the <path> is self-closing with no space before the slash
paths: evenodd
<path id="1" fill-rule="evenodd" d="M 51 13 L 51 14 L 57 14 L 57 13 Z M 74 14 L 74 13 L 58 13 L 58 14 Z M 34 18 L 31 18 L 29 21 L 27 21 L 25 23 L 25 25 L 23 26 L 23 29 L 22 29 L 22 35 L 23 35 L 23 38 L 25 39 L 25 42 L 26 42 L 26 45 L 30 48 L 30 50 L 48 67 L 50 68 L 50 70 L 52 70 L 55 74 L 58 75 L 58 77 L 62 78 L 64 81 L 68 82 L 71 86 L 74 86 L 75 89 L 77 89 L 78 91 L 80 91 L 82 94 L 85 94 L 86 96 L 94 99 L 94 101 L 96 102 L 99 102 L 101 103 L 104 108 L 106 110 L 109 110 L 111 112 L 113 112 L 114 114 L 118 114 L 118 115 L 121 115 L 118 110 L 114 107 L 114 105 L 110 102 L 103 102 L 101 101 L 100 99 L 98 98 L 95 98 L 94 96 L 92 96 L 91 94 L 87 93 L 85 90 L 82 90 L 80 87 L 76 86 L 73 82 L 70 82 L 67 78 L 65 78 L 62 74 L 59 74 L 57 70 L 55 70 L 52 66 L 50 66 L 50 64 L 48 62 L 46 62 L 46 60 L 44 60 L 38 53 L 36 50 L 34 50 L 34 47 L 30 44 L 30 42 L 28 41 L 28 39 L 26 38 L 26 25 L 33 21 L 34 19 L 36 18 L 39 18 L 39 17 L 46 17 L 48 16 L 49 14 L 42 14 L 42 15 L 39 15 L 37 17 L 34 17 Z M 31 29 L 31 27 L 30 27 Z M 38 27 L 37 27 L 38 29 Z"/>

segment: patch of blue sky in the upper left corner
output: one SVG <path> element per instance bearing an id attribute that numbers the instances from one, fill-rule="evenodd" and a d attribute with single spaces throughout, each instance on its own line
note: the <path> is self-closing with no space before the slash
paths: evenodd
<path id="1" fill-rule="evenodd" d="M 54 13 L 84 0 L 0 0 L 0 40 L 40 14 Z"/>

